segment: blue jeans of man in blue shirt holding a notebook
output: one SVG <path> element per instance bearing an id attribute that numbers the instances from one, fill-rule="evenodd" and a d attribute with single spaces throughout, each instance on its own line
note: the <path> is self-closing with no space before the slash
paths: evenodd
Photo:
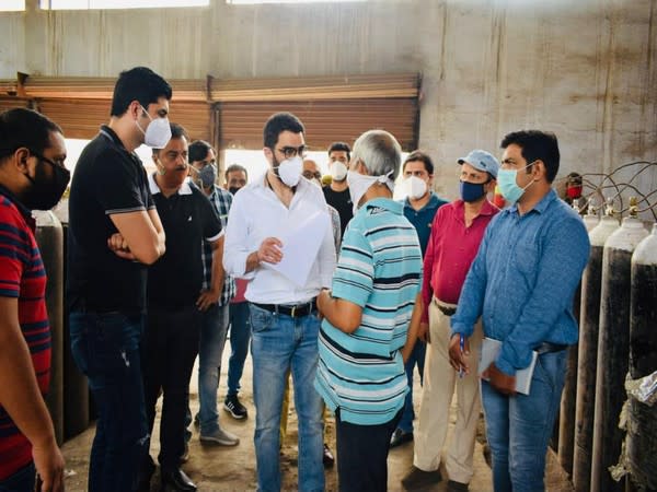
<path id="1" fill-rule="evenodd" d="M 561 403 L 567 351 L 539 355 L 528 396 L 505 396 L 482 380 L 495 492 L 545 490 L 545 453 Z"/>

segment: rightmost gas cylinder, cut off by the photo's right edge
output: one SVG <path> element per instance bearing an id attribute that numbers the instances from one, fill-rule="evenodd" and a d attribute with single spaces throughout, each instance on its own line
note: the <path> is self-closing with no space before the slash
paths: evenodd
<path id="1" fill-rule="evenodd" d="M 657 371 L 657 224 L 632 255 L 630 377 Z M 626 458 L 634 484 L 657 490 L 657 406 L 630 397 Z"/>

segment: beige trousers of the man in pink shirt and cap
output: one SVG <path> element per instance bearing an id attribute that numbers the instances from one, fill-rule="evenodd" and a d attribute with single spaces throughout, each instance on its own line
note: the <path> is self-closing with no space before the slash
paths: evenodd
<path id="1" fill-rule="evenodd" d="M 424 366 L 413 465 L 424 471 L 434 471 L 440 466 L 440 454 L 449 425 L 449 408 L 456 386 L 457 425 L 453 442 L 447 452 L 446 469 L 450 480 L 469 483 L 473 475 L 472 455 L 481 408 L 477 365 L 483 331 L 480 320 L 469 340 L 470 374 L 460 378 L 449 364 L 450 317 L 442 314 L 437 303 L 450 306 L 436 298 L 429 306 L 430 343 L 427 344 Z"/>

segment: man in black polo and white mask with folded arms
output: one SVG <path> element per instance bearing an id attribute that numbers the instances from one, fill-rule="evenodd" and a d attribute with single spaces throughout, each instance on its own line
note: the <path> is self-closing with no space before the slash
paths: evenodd
<path id="1" fill-rule="evenodd" d="M 171 93 L 147 68 L 122 72 L 110 125 L 87 145 L 73 174 L 67 302 L 72 354 L 99 412 L 91 492 L 135 490 L 146 449 L 139 345 L 147 265 L 164 253 L 164 230 L 134 151 L 169 141 Z"/>

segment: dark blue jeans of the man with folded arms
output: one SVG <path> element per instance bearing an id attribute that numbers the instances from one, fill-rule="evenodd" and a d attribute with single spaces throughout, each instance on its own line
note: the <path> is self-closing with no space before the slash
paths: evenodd
<path id="1" fill-rule="evenodd" d="M 91 446 L 89 491 L 132 491 L 147 452 L 148 431 L 139 355 L 145 317 L 73 312 L 71 352 L 99 414 Z"/>

